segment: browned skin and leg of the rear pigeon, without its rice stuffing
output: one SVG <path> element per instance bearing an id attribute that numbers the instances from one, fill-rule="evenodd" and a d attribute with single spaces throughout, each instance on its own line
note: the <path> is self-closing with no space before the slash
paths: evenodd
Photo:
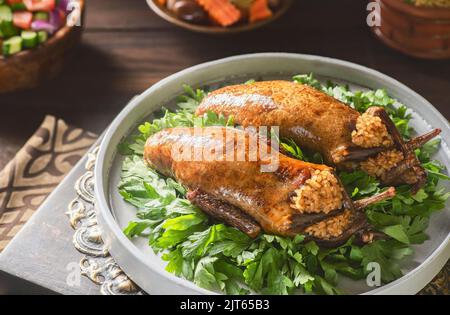
<path id="1" fill-rule="evenodd" d="M 262 81 L 227 86 L 209 93 L 196 114 L 208 111 L 233 116 L 234 121 L 244 127 L 279 126 L 282 137 L 320 152 L 329 165 L 341 169 L 358 168 L 359 161 L 385 150 L 355 146 L 352 131 L 360 114 L 335 98 L 299 83 Z M 383 109 L 373 108 L 372 111 Z M 396 129 L 393 131 L 398 134 Z M 386 185 L 416 184 L 413 190 L 417 190 L 425 182 L 426 173 L 415 158 L 414 150 L 407 150 L 403 140 L 397 140 L 395 146 L 405 156 L 401 163 L 403 168 L 395 178 L 387 176 L 382 181 Z M 354 162 L 350 162 L 350 156 Z"/>

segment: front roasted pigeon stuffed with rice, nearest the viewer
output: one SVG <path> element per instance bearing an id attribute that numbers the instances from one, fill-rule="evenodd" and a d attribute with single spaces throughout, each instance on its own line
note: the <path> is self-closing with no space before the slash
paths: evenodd
<path id="1" fill-rule="evenodd" d="M 234 128 L 166 129 L 147 140 L 144 158 L 184 185 L 204 212 L 251 237 L 262 229 L 327 246 L 351 235 L 370 242 L 374 233 L 361 209 L 395 193 L 352 202 L 332 168 L 278 154 L 265 138 Z M 276 169 L 262 171 L 274 162 Z"/>

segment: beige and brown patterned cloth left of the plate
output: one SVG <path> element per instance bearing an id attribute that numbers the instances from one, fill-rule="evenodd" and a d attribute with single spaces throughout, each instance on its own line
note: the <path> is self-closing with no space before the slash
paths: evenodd
<path id="1" fill-rule="evenodd" d="M 0 172 L 0 252 L 97 139 L 53 116 Z"/>

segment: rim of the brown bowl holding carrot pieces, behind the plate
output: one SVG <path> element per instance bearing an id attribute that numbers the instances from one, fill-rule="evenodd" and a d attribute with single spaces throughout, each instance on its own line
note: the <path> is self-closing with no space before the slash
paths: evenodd
<path id="1" fill-rule="evenodd" d="M 153 12 L 162 17 L 164 20 L 177 26 L 180 26 L 182 28 L 185 28 L 187 30 L 207 34 L 232 34 L 251 31 L 275 21 L 284 13 L 286 13 L 287 9 L 289 9 L 291 4 L 293 3 L 293 0 L 283 0 L 281 7 L 274 13 L 274 15 L 271 18 L 267 20 L 263 20 L 256 23 L 238 24 L 236 26 L 230 27 L 199 25 L 185 22 L 183 20 L 178 19 L 169 9 L 159 5 L 156 0 L 147 0 L 147 3 L 153 10 Z"/>

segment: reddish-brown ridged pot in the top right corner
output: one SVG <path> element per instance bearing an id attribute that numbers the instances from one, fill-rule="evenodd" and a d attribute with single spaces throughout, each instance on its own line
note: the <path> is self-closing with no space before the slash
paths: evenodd
<path id="1" fill-rule="evenodd" d="M 414 57 L 450 58 L 450 9 L 415 7 L 403 0 L 379 2 L 381 26 L 372 31 L 386 45 Z"/>

